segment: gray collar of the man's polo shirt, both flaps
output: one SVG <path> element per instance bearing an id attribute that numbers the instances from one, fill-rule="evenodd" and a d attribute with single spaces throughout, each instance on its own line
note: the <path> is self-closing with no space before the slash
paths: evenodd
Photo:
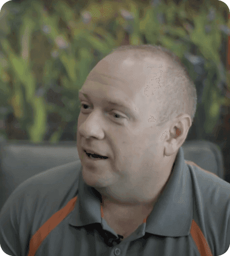
<path id="1" fill-rule="evenodd" d="M 168 183 L 160 194 L 154 209 L 144 223 L 146 233 L 166 237 L 189 235 L 192 216 L 192 184 L 188 166 L 184 161 L 184 151 L 180 147 Z M 70 225 L 85 226 L 102 223 L 100 203 L 102 197 L 82 178 L 82 168 L 78 181 L 78 199 L 71 212 Z"/>

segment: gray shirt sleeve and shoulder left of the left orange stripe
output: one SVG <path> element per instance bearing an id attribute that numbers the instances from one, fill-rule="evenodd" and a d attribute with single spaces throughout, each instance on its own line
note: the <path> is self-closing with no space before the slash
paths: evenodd
<path id="1" fill-rule="evenodd" d="M 26 254 L 31 235 L 78 193 L 81 167 L 80 160 L 54 167 L 27 179 L 13 191 L 0 212 L 0 244 L 5 252 Z"/>

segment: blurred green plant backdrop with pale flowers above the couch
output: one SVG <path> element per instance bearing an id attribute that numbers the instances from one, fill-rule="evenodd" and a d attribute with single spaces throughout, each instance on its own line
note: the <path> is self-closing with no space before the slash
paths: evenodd
<path id="1" fill-rule="evenodd" d="M 229 7 L 218 0 L 24 0 L 0 13 L 0 136 L 76 141 L 78 90 L 114 47 L 158 44 L 178 55 L 198 102 L 188 140 L 224 155 L 230 182 Z"/>

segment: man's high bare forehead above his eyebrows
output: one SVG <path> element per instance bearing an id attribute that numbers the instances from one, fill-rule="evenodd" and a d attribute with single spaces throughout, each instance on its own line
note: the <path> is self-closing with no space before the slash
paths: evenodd
<path id="1" fill-rule="evenodd" d="M 146 57 L 142 62 L 138 62 L 132 56 L 119 58 L 112 55 L 111 58 L 102 59 L 92 69 L 83 87 L 102 86 L 101 88 L 106 91 L 119 90 L 131 101 L 135 102 L 136 98 L 142 98 L 147 103 L 155 98 L 152 97 L 152 92 L 156 94 L 160 90 L 159 84 L 164 70 L 166 63 L 160 57 Z M 97 94 L 95 89 L 92 90 Z"/>

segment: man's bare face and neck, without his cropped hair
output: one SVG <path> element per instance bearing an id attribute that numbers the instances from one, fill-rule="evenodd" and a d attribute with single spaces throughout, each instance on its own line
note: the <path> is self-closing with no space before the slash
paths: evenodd
<path id="1" fill-rule="evenodd" d="M 192 124 L 189 110 L 183 108 L 187 113 L 173 123 L 157 126 L 159 109 L 173 101 L 172 95 L 161 93 L 167 62 L 158 55 L 137 59 L 134 51 L 118 51 L 95 66 L 79 91 L 77 145 L 82 176 L 102 195 L 104 217 L 123 237 L 151 213 Z M 180 90 L 184 102 L 189 101 L 185 89 Z M 177 129 L 181 134 L 176 139 Z M 84 150 L 108 159 L 92 161 Z"/>

